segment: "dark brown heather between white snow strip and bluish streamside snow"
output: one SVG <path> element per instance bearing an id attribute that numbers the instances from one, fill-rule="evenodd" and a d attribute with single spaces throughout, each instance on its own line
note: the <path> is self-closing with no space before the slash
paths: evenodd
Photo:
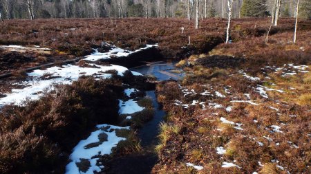
<path id="1" fill-rule="evenodd" d="M 64 172 L 68 153 L 99 123 L 115 123 L 120 80 L 79 78 L 23 107 L 0 113 L 0 170 L 3 173 Z M 62 166 L 62 167 L 59 167 Z"/>

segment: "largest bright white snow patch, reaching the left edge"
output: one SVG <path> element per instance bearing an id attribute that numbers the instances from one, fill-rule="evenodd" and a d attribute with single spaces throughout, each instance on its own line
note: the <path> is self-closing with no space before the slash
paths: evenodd
<path id="1" fill-rule="evenodd" d="M 93 66 L 94 64 L 90 64 Z M 111 65 L 96 67 L 79 67 L 76 65 L 64 65 L 63 67 L 50 67 L 44 70 L 37 69 L 28 76 L 31 80 L 19 83 L 19 85 L 25 85 L 23 89 L 12 89 L 11 93 L 5 94 L 6 97 L 0 98 L 0 105 L 8 105 L 10 103 L 19 105 L 23 100 L 29 98 L 36 100 L 39 98 L 39 94 L 45 89 L 47 91 L 53 90 L 52 85 L 54 83 L 71 84 L 74 80 L 77 80 L 80 76 L 95 76 L 95 78 L 110 78 L 111 74 L 104 72 L 109 70 L 116 70 L 117 74 L 123 76 L 124 72 L 128 69 L 126 67 Z M 43 76 L 47 76 L 51 79 L 42 80 Z"/>

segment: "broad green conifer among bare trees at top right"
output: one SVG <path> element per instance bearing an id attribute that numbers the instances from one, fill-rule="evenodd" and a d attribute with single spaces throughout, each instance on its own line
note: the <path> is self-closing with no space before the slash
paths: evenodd
<path id="1" fill-rule="evenodd" d="M 267 0 L 244 0 L 241 8 L 242 17 L 265 17 L 269 14 Z"/>

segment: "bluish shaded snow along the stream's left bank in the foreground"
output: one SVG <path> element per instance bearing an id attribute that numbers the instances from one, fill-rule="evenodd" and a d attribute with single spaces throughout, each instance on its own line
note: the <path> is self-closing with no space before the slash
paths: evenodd
<path id="1" fill-rule="evenodd" d="M 138 89 L 125 89 L 124 94 L 131 96 L 135 91 L 138 91 Z M 144 109 L 144 107 L 140 107 L 133 99 L 126 101 L 120 100 L 119 107 L 120 114 L 136 113 Z M 125 119 L 131 118 L 131 116 L 126 116 Z M 70 155 L 70 163 L 66 166 L 66 174 L 93 174 L 102 171 L 104 166 L 97 162 L 99 160 L 97 156 L 111 154 L 113 147 L 117 146 L 120 141 L 126 140 L 126 138 L 116 135 L 116 129 L 130 129 L 130 127 L 117 127 L 110 124 L 97 125 L 96 130 L 86 140 L 81 140 L 73 149 L 73 153 Z M 89 164 L 86 172 L 80 170 L 79 163 L 81 162 Z"/>

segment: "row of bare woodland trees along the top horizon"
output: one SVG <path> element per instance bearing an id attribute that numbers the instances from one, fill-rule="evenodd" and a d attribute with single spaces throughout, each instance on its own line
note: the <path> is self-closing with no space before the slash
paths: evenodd
<path id="1" fill-rule="evenodd" d="M 198 6 L 196 2 L 198 1 Z M 234 0 L 232 17 L 272 16 L 279 1 L 281 17 L 295 17 L 296 0 Z M 227 0 L 0 0 L 2 19 L 227 17 Z M 299 17 L 311 19 L 311 2 L 301 0 Z"/>

